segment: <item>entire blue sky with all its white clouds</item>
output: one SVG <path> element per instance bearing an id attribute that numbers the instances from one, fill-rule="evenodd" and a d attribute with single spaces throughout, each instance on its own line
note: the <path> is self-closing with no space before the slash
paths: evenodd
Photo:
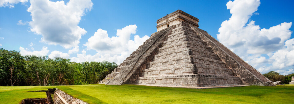
<path id="1" fill-rule="evenodd" d="M 156 32 L 157 19 L 180 9 L 197 17 L 199 28 L 220 40 L 260 72 L 294 73 L 294 63 L 291 60 L 294 58 L 294 48 L 291 47 L 294 38 L 292 0 L 252 0 L 245 4 L 239 1 L 230 4 L 227 0 L 65 0 L 63 5 L 55 4 L 57 1 L 59 0 L 0 0 L 0 47 L 20 51 L 23 55 L 60 56 L 77 62 L 107 60 L 121 63 Z M 51 6 L 43 6 L 49 4 Z M 247 6 L 241 8 L 240 5 Z M 235 14 L 248 19 L 230 20 L 233 17 L 230 10 L 235 10 Z M 44 12 L 47 14 L 42 14 Z M 224 22 L 226 20 L 228 22 Z M 246 23 L 239 23 L 241 21 Z M 254 24 L 251 21 L 254 21 Z M 242 28 L 230 28 L 236 25 Z M 270 29 L 274 26 L 277 26 L 277 29 Z M 222 32 L 219 32 L 220 27 Z M 263 28 L 267 30 L 262 31 Z M 250 29 L 261 32 L 246 31 Z M 269 35 L 266 33 L 268 31 Z M 258 38 L 244 37 L 247 34 L 250 34 L 248 37 Z M 234 39 L 232 36 L 243 40 Z M 237 42 L 228 42 L 230 39 Z M 275 42 L 278 43 L 274 44 Z"/>

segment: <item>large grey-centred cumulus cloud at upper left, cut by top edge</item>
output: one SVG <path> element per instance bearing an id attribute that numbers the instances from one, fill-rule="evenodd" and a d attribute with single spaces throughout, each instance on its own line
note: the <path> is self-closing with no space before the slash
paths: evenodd
<path id="1" fill-rule="evenodd" d="M 72 48 L 87 33 L 78 23 L 81 16 L 92 9 L 91 0 L 70 0 L 66 4 L 64 1 L 30 0 L 30 3 L 27 9 L 32 16 L 32 21 L 28 22 L 30 30 L 42 35 L 42 42 Z"/>

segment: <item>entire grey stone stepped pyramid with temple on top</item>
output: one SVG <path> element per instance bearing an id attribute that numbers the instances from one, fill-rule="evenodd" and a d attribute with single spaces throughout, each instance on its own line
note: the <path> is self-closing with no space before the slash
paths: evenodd
<path id="1" fill-rule="evenodd" d="M 271 86 L 269 79 L 177 10 L 157 20 L 157 32 L 100 83 L 209 88 Z"/>

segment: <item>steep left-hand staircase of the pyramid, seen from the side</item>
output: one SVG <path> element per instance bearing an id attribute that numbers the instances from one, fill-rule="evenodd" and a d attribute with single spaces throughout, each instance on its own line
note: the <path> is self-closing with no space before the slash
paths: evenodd
<path id="1" fill-rule="evenodd" d="M 140 71 L 147 67 L 147 63 L 152 61 L 153 56 L 158 52 L 158 48 L 171 34 L 174 26 L 156 32 L 145 41 L 145 43 L 134 51 L 130 57 L 121 63 L 111 74 L 100 83 L 105 84 L 135 84 Z"/>

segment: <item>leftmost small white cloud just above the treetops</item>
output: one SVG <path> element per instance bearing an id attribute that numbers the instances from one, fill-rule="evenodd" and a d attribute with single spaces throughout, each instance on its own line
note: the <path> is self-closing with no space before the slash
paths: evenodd
<path id="1" fill-rule="evenodd" d="M 36 56 L 46 56 L 49 52 L 47 47 L 43 47 L 41 51 L 33 51 L 31 52 L 28 48 L 19 47 L 19 50 L 22 56 L 26 55 L 36 55 Z"/>

